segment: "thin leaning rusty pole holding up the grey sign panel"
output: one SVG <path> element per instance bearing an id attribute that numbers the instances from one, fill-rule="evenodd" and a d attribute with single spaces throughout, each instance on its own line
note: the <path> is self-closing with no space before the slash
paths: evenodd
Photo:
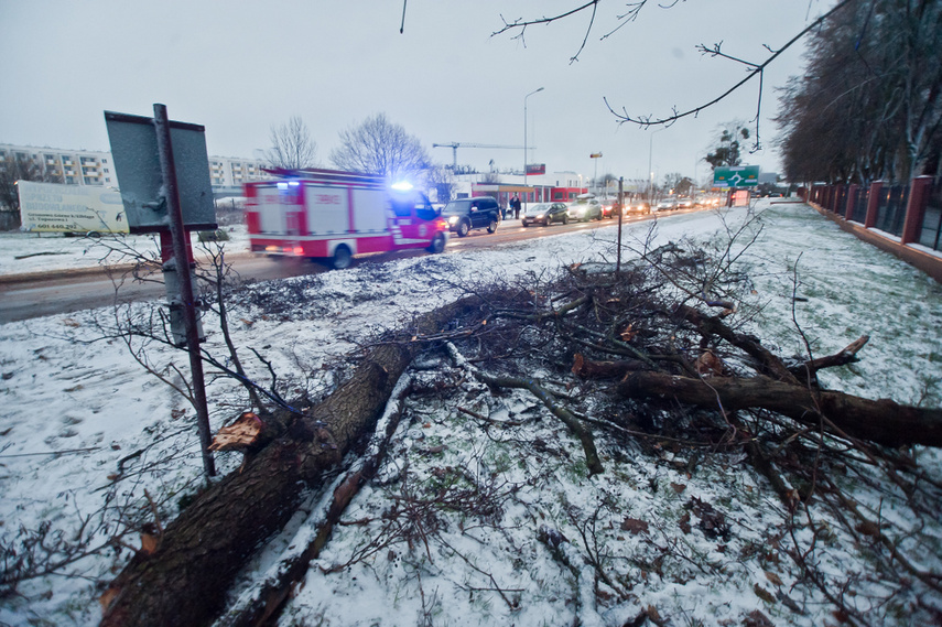
<path id="1" fill-rule="evenodd" d="M 170 233 L 173 238 L 173 257 L 176 275 L 180 281 L 180 304 L 184 312 L 186 348 L 190 353 L 190 369 L 193 372 L 193 402 L 196 406 L 196 428 L 199 432 L 199 448 L 203 454 L 203 468 L 207 477 L 216 475 L 213 453 L 209 452 L 212 434 L 209 432 L 209 410 L 206 406 L 206 386 L 203 377 L 203 359 L 199 356 L 199 332 L 196 326 L 196 304 L 193 296 L 193 282 L 190 274 L 190 256 L 186 253 L 186 230 L 183 225 L 183 212 L 176 184 L 176 169 L 170 140 L 170 119 L 166 106 L 154 105 L 154 129 L 156 131 L 160 167 L 163 175 L 166 213 L 170 218 Z"/>

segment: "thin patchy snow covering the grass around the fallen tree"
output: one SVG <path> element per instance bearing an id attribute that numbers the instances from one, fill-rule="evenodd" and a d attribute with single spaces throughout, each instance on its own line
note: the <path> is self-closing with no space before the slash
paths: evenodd
<path id="1" fill-rule="evenodd" d="M 863 360 L 822 372 L 824 386 L 868 398 L 942 404 L 942 288 L 804 205 L 761 203 L 757 209 L 762 228 L 740 263 L 748 267 L 750 298 L 765 307 L 756 324 L 766 343 L 782 355 L 806 355 L 795 321 L 815 355 L 835 353 L 868 334 Z M 629 226 L 626 241 L 639 249 L 649 235 L 659 244 L 705 240 L 735 230 L 746 216 L 744 208 L 662 216 L 653 234 L 648 231 L 652 223 Z M 245 231 L 236 228 L 231 236 L 227 250 L 245 251 Z M 278 283 L 281 296 L 272 295 L 272 285 L 249 288 L 231 303 L 234 338 L 251 377 L 266 380 L 268 370 L 248 358 L 249 347 L 271 361 L 288 396 L 305 389 L 316 398 L 336 385 L 333 368 L 339 358 L 372 333 L 399 327 L 478 281 L 540 281 L 563 264 L 611 261 L 614 239 L 615 227 L 608 226 L 290 279 Z M 132 241 L 151 246 L 145 237 Z M 93 267 L 99 263 L 97 250 L 84 239 L 2 234 L 0 274 Z M 29 252 L 55 255 L 15 259 Z M 277 314 L 260 313 L 251 294 L 263 288 L 270 289 L 264 292 L 268 311 L 278 309 L 272 299 L 283 299 Z M 794 312 L 793 292 L 806 299 Z M 143 303 L 120 313 L 149 310 Z M 101 309 L 0 325 L 4 551 L 22 538 L 22 530 L 43 523 L 48 523 L 47 538 L 58 531 L 64 539 L 87 539 L 91 547 L 108 543 L 121 529 L 119 512 L 129 520 L 152 519 L 144 490 L 169 518 L 202 480 L 193 410 L 143 370 L 126 343 L 110 333 L 113 322 L 115 312 Z M 214 318 L 203 324 L 209 350 L 224 355 Z M 182 383 L 169 364 L 180 364 L 185 372 L 185 355 L 137 340 L 131 348 L 145 348 L 137 355 L 166 382 Z M 773 624 L 835 621 L 834 607 L 784 556 L 791 540 L 773 534 L 786 518 L 782 506 L 741 455 L 692 473 L 690 460 L 670 446 L 652 458 L 599 439 L 606 473 L 588 477 L 584 462 L 578 463 L 577 441 L 535 399 L 523 392 L 495 398 L 463 375 L 469 366 L 461 360 L 433 366 L 463 381 L 455 398 L 447 404 L 407 401 L 377 478 L 335 528 L 281 625 L 539 626 L 571 625 L 578 616 L 583 625 L 608 626 L 631 621 L 648 607 L 675 625 L 739 625 L 757 609 Z M 427 375 L 414 370 L 409 376 L 421 381 Z M 231 381 L 208 380 L 215 431 L 238 415 L 246 401 Z M 458 407 L 507 425 L 481 423 Z M 518 453 L 521 442 L 531 454 Z M 938 480 L 939 452 L 920 451 L 919 460 Z M 240 461 L 238 454 L 217 455 L 223 473 Z M 851 477 L 841 480 L 859 507 L 903 529 L 916 526 L 908 509 L 894 509 L 897 501 L 887 496 L 891 486 L 868 489 Z M 470 490 L 476 509 L 462 514 L 422 501 L 425 518 L 407 525 L 402 506 L 397 509 L 403 495 L 419 502 L 429 486 L 440 484 Z M 694 498 L 725 515 L 734 530 L 728 540 L 701 531 L 697 525 L 706 514 L 691 515 Z M 105 515 L 96 514 L 102 507 Z M 324 504 L 311 495 L 290 528 L 242 573 L 234 604 L 251 603 L 258 583 L 278 561 L 303 550 L 323 510 Z M 827 516 L 815 512 L 819 521 Z M 80 528 L 84 517 L 90 518 Z M 694 528 L 691 533 L 679 531 L 684 517 Z M 647 522 L 648 530 L 622 527 L 627 519 Z M 832 536 L 821 540 L 829 550 L 820 553 L 819 570 L 835 582 L 866 579 L 871 571 L 866 550 L 832 526 Z M 813 533 L 801 522 L 794 529 L 805 543 Z M 549 547 L 559 537 L 565 540 L 554 554 Z M 136 538 L 130 534 L 127 542 L 137 543 Z M 928 521 L 913 529 L 908 542 L 903 547 L 911 560 L 942 570 L 942 523 Z M 765 558 L 756 556 L 760 554 Z M 604 561 L 611 585 L 629 601 L 616 602 L 619 594 L 608 583 L 596 590 L 593 555 Z M 97 597 L 104 588 L 96 582 L 107 584 L 128 556 L 127 549 L 108 549 L 66 565 L 62 574 L 22 584 L 19 595 L 0 599 L 0 625 L 97 624 Z M 903 597 L 909 606 L 894 614 L 879 604 L 879 582 L 862 585 L 869 594 L 848 604 L 864 614 L 877 613 L 877 623 L 910 624 L 914 598 Z M 764 599 L 764 593 L 779 601 Z M 942 606 L 938 596 L 922 594 L 922 603 Z"/>

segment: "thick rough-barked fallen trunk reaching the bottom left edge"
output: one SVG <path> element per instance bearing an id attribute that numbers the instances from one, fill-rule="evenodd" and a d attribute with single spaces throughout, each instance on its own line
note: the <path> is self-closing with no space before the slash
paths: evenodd
<path id="1" fill-rule="evenodd" d="M 474 306 L 466 299 L 440 307 L 410 331 L 437 333 Z M 202 494 L 167 526 L 156 552 L 139 553 L 118 575 L 102 597 L 101 625 L 204 625 L 215 618 L 239 569 L 294 514 L 302 488 L 316 485 L 375 424 L 421 345 L 371 348 L 329 399 L 293 421 L 242 472 Z"/>

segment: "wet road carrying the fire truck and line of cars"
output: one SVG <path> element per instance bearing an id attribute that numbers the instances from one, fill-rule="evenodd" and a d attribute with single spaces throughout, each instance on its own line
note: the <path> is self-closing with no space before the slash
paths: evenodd
<path id="1" fill-rule="evenodd" d="M 650 216 L 630 217 L 627 218 L 627 221 L 638 221 L 639 219 L 650 219 Z M 613 224 L 615 224 L 614 220 L 602 220 L 523 228 L 518 220 L 505 220 L 495 234 L 488 234 L 481 229 L 472 231 L 464 238 L 452 236 L 443 255 L 467 248 L 487 248 L 497 244 L 559 233 L 594 229 Z M 419 255 L 427 255 L 427 252 L 414 250 L 372 255 L 357 258 L 357 263 L 377 263 L 393 258 L 401 259 Z M 258 281 L 327 271 L 326 266 L 303 259 L 270 258 L 249 252 L 230 255 L 227 260 L 231 262 L 234 270 L 242 279 Z M 116 277 L 116 279 L 119 278 Z M 160 277 L 154 277 L 154 279 L 155 281 L 160 280 Z M 158 299 L 163 295 L 164 287 L 162 283 L 138 282 L 127 279 L 116 288 L 112 279 L 98 269 L 4 277 L 0 280 L 0 324 L 52 314 L 72 313 L 116 302 Z"/>

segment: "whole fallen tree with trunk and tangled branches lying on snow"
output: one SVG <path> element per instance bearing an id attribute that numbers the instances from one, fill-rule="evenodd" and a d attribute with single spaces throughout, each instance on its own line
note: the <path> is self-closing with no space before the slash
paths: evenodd
<path id="1" fill-rule="evenodd" d="M 252 447 L 242 471 L 201 495 L 166 527 L 153 553 L 131 560 L 102 599 L 107 606 L 102 625 L 205 624 L 218 616 L 239 569 L 294 514 L 303 490 L 316 488 L 323 473 L 336 468 L 375 423 L 416 349 L 443 339 L 462 342 L 468 353 L 476 354 L 475 363 L 481 366 L 475 376 L 495 392 L 519 388 L 542 401 L 582 443 L 589 474 L 603 472 L 594 443 L 600 431 L 611 426 L 620 429 L 618 433 L 663 437 L 656 426 L 647 426 L 648 434 L 626 429 L 630 412 L 622 411 L 625 399 L 669 399 L 659 403 L 658 411 L 665 404 L 704 408 L 715 417 L 717 432 L 729 424 L 730 414 L 768 410 L 801 425 L 783 437 L 787 443 L 822 430 L 881 446 L 942 442 L 938 410 L 869 401 L 821 390 L 808 381 L 820 368 L 855 359 L 859 342 L 834 358 L 809 359 L 803 370 L 788 368 L 758 338 L 732 328 L 718 316 L 656 298 L 650 280 L 640 271 L 592 278 L 572 272 L 549 287 L 546 298 L 534 298 L 529 288 L 473 290 L 475 296 L 422 316 L 407 334 L 373 344 L 353 377 L 326 401 L 300 417 L 271 419 L 270 429 L 260 432 L 264 441 Z M 446 326 L 452 331 L 443 332 Z M 733 352 L 737 360 L 729 359 Z M 710 361 L 702 359 L 707 354 Z M 523 375 L 532 367 L 532 361 L 526 363 L 529 358 L 540 364 L 544 375 L 570 377 L 566 386 L 582 389 L 563 394 L 553 391 L 559 389 L 556 383 Z M 706 364 L 713 376 L 704 376 Z M 572 380 L 570 372 L 582 379 Z M 615 386 L 603 381 L 615 376 L 625 378 Z M 589 396 L 616 403 L 611 424 L 574 409 Z M 676 424 L 684 422 L 684 413 L 676 411 Z M 593 425 L 598 425 L 595 434 Z M 746 445 L 755 451 L 754 463 L 767 464 L 762 473 L 775 483 L 773 464 L 755 443 Z M 364 476 L 351 475 L 344 483 L 335 495 L 336 508 L 342 510 L 349 502 L 354 486 L 362 480 Z M 778 485 L 780 494 L 790 489 L 784 480 Z M 320 550 L 328 532 L 318 536 L 312 551 Z M 258 612 L 248 612 L 234 624 L 256 624 L 280 606 L 290 590 L 289 580 L 305 570 L 299 561 L 288 566 L 285 580 L 270 588 L 272 598 L 260 602 L 268 608 L 255 608 Z"/>

